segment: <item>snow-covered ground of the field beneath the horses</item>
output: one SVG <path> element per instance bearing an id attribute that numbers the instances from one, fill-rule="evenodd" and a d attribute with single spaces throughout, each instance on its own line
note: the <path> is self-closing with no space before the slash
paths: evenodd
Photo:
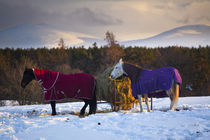
<path id="1" fill-rule="evenodd" d="M 139 107 L 125 112 L 97 113 L 85 118 L 70 115 L 83 103 L 57 104 L 60 115 L 50 116 L 50 105 L 0 107 L 0 139 L 129 140 L 210 139 L 210 97 L 180 98 L 180 111 L 167 111 L 169 99 L 154 99 L 153 112 Z M 109 110 L 99 104 L 98 110 Z"/>

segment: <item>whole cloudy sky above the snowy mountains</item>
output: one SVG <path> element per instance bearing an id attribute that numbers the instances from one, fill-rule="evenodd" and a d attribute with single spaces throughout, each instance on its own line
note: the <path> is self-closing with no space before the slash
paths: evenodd
<path id="1" fill-rule="evenodd" d="M 49 24 L 103 39 L 142 39 L 192 24 L 210 25 L 210 0 L 0 0 L 0 30 Z"/>

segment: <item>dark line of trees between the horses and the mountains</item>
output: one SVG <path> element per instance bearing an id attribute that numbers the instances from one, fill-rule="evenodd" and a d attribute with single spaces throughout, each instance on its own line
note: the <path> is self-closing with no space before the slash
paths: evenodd
<path id="1" fill-rule="evenodd" d="M 0 100 L 18 100 L 20 104 L 41 103 L 42 90 L 37 82 L 23 90 L 20 81 L 25 67 L 50 69 L 61 73 L 90 73 L 97 77 L 120 58 L 147 69 L 172 66 L 182 79 L 181 96 L 210 95 L 210 48 L 169 46 L 146 48 L 120 46 L 112 33 L 107 32 L 107 45 L 94 43 L 81 47 L 38 49 L 0 49 Z"/>

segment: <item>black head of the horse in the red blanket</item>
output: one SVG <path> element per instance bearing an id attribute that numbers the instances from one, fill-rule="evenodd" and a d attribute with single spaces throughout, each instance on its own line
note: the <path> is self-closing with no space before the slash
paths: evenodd
<path id="1" fill-rule="evenodd" d="M 26 68 L 23 73 L 23 78 L 21 80 L 21 87 L 25 88 L 34 79 L 35 76 L 33 70 Z"/>

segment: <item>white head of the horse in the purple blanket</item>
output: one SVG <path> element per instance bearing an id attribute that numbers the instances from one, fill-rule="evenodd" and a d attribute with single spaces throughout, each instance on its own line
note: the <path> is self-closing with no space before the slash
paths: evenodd
<path id="1" fill-rule="evenodd" d="M 114 69 L 111 72 L 111 78 L 112 79 L 117 79 L 120 76 L 126 74 L 125 71 L 123 70 L 123 60 L 122 58 L 119 60 L 119 62 L 114 66 Z"/>

